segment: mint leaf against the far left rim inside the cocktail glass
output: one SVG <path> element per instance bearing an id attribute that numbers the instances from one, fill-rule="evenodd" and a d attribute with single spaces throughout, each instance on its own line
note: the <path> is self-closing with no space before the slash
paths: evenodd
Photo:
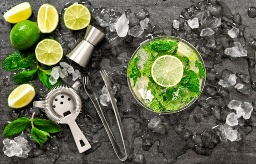
<path id="1" fill-rule="evenodd" d="M 141 77 L 141 73 L 140 73 L 138 65 L 137 65 L 138 61 L 139 61 L 139 56 L 135 57 L 131 61 L 130 66 L 127 70 L 128 76 L 133 79 L 133 86 L 132 87 L 135 87 L 135 84 L 137 82 L 138 77 Z"/>

